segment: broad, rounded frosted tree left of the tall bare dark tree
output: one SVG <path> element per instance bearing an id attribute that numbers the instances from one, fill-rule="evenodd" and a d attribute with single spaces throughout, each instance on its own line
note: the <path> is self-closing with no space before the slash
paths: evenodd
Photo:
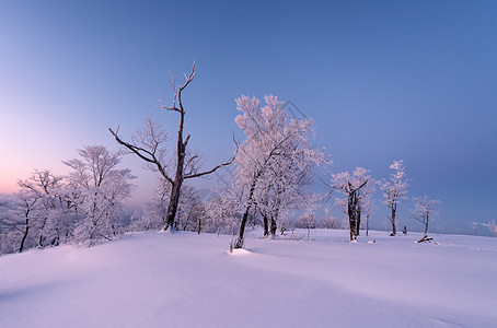
<path id="1" fill-rule="evenodd" d="M 81 221 L 74 230 L 78 243 L 94 245 L 120 233 L 124 201 L 130 197 L 135 178 L 128 168 L 117 168 L 122 153 L 102 145 L 79 150 L 81 159 L 63 161 L 72 168 L 67 198 Z"/>

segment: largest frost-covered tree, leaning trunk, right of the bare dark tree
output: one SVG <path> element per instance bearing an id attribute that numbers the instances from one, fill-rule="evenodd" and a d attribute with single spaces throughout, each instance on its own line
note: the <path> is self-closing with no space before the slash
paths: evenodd
<path id="1" fill-rule="evenodd" d="M 278 215 L 289 202 L 297 203 L 303 186 L 299 184 L 312 176 L 314 165 L 325 163 L 323 152 L 310 143 L 312 120 L 291 118 L 276 96 L 265 96 L 265 102 L 261 107 L 255 97 L 236 99 L 241 114 L 235 121 L 246 140 L 235 162 L 236 184 L 245 190 L 235 248 L 243 245 L 245 225 L 256 206 L 264 207 L 263 213 Z"/>

